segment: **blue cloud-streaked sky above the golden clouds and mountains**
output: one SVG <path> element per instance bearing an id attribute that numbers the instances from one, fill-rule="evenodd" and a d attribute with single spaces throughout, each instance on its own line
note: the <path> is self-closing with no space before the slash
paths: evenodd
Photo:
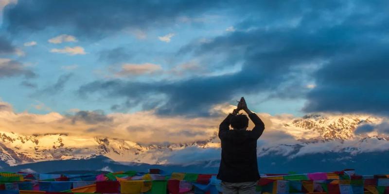
<path id="1" fill-rule="evenodd" d="M 39 114 L 209 117 L 241 96 L 273 115 L 388 114 L 387 8 L 383 0 L 11 1 L 2 10 L 0 97 Z"/>

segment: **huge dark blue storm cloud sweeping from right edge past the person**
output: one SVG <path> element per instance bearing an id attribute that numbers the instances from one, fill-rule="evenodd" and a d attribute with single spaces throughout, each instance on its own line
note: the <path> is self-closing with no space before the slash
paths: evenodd
<path id="1" fill-rule="evenodd" d="M 148 108 L 167 115 L 208 115 L 214 104 L 258 93 L 279 98 L 307 97 L 307 112 L 385 113 L 389 109 L 388 3 L 282 4 L 262 3 L 275 10 L 266 12 L 261 7 L 262 12 L 253 12 L 236 25 L 241 29 L 206 43 L 189 44 L 177 54 L 223 56 L 224 66 L 242 61 L 238 72 L 175 82 L 94 81 L 81 86 L 79 92 L 101 92 L 136 102 L 162 94 L 166 97 L 164 103 Z M 277 13 L 284 12 L 278 17 Z M 307 89 L 307 80 L 315 81 L 317 87 Z"/>

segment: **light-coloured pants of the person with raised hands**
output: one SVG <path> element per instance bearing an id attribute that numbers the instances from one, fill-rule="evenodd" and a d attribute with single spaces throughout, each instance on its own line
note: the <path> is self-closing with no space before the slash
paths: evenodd
<path id="1" fill-rule="evenodd" d="M 225 182 L 221 183 L 223 194 L 255 194 L 257 182 Z"/>

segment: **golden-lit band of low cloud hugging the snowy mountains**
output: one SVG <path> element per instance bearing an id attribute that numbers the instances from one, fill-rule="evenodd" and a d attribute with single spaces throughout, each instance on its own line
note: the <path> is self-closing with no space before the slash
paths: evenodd
<path id="1" fill-rule="evenodd" d="M 217 138 L 218 126 L 227 113 L 234 108 L 236 107 L 220 104 L 209 110 L 217 116 L 193 118 L 181 115 L 161 117 L 154 111 L 105 114 L 99 110 L 75 110 L 74 113 L 62 115 L 55 112 L 46 114 L 14 113 L 10 104 L 0 102 L 0 125 L 2 126 L 1 132 L 3 133 L 13 132 L 23 135 L 34 134 L 35 136 L 48 133 L 65 133 L 69 136 L 67 140 L 64 140 L 66 145 L 74 144 L 75 142 L 73 141 L 75 139 L 82 141 L 78 142 L 78 144 L 95 145 L 96 138 L 123 140 L 131 145 L 135 143 L 141 145 L 181 144 L 188 147 L 173 148 L 173 152 L 169 150 L 167 155 L 162 153 L 151 155 L 168 162 L 188 163 L 201 161 L 204 158 L 207 160 L 217 160 L 220 157 L 220 140 Z M 265 122 L 265 131 L 258 141 L 259 156 L 274 155 L 276 153 L 293 158 L 330 151 L 346 151 L 357 154 L 388 150 L 389 141 L 375 137 L 352 138 L 344 141 L 335 140 L 330 142 L 301 142 L 296 139 L 297 137 L 291 135 L 299 133 L 300 129 L 285 127 L 285 124 L 290 124 L 294 120 L 301 118 L 285 115 L 271 116 L 265 113 L 259 113 L 258 115 Z M 253 127 L 252 125 L 250 122 L 249 129 Z M 378 124 L 377 126 L 380 126 L 376 127 L 377 130 L 388 129 L 388 123 Z M 26 128 L 29 130 L 25 130 Z M 45 130 L 42 131 L 42 129 Z M 68 144 L 66 141 L 72 142 Z M 208 144 L 205 144 L 207 142 Z M 193 143 L 204 147 L 191 146 Z M 128 159 L 122 159 L 122 161 L 125 160 Z M 155 162 L 155 160 L 151 159 L 149 161 Z"/>

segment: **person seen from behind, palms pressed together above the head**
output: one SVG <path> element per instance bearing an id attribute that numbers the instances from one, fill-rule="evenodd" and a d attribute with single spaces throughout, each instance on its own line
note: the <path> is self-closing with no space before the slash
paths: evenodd
<path id="1" fill-rule="evenodd" d="M 241 110 L 244 110 L 254 123 L 255 127 L 252 130 L 247 130 L 248 117 L 245 114 L 238 114 Z M 223 194 L 255 194 L 255 187 L 260 178 L 257 140 L 264 130 L 264 122 L 248 109 L 244 97 L 239 101 L 237 109 L 221 122 L 218 135 L 222 151 L 217 178 L 222 180 Z"/>

